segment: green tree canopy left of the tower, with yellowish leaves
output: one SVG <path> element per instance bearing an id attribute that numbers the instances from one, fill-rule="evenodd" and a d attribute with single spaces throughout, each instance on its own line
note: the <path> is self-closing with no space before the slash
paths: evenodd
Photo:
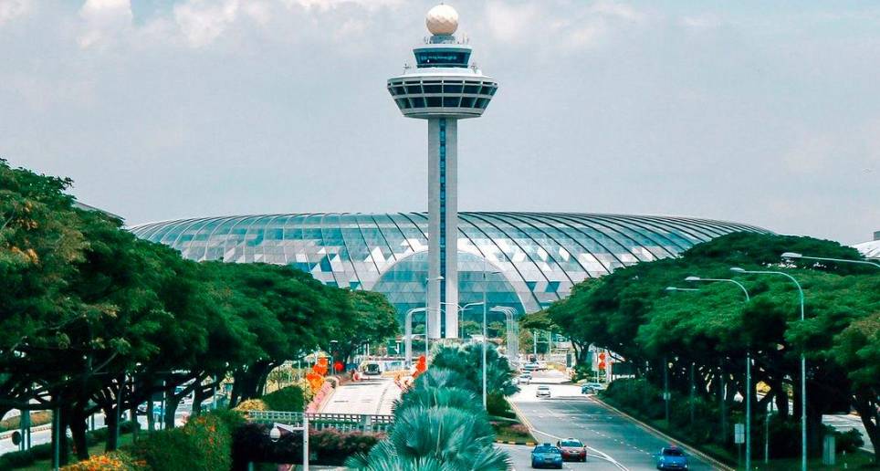
<path id="1" fill-rule="evenodd" d="M 199 413 L 226 376 L 234 406 L 283 361 L 397 332 L 382 295 L 291 267 L 185 260 L 79 209 L 70 184 L 0 160 L 0 415 L 58 408 L 80 457 L 92 413 L 106 414 L 113 449 L 120 409 L 154 393 L 173 426 L 183 396 Z"/>

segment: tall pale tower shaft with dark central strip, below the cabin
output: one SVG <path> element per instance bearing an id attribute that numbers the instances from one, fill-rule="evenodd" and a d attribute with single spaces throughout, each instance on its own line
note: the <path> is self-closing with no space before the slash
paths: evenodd
<path id="1" fill-rule="evenodd" d="M 457 167 L 458 120 L 429 119 L 428 336 L 433 339 L 458 337 Z"/>

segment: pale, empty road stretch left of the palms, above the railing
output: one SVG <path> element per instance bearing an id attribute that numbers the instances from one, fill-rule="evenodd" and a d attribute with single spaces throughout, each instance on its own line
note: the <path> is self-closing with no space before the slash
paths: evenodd
<path id="1" fill-rule="evenodd" d="M 390 378 L 377 378 L 342 384 L 324 404 L 322 413 L 392 413 L 400 387 Z"/>

